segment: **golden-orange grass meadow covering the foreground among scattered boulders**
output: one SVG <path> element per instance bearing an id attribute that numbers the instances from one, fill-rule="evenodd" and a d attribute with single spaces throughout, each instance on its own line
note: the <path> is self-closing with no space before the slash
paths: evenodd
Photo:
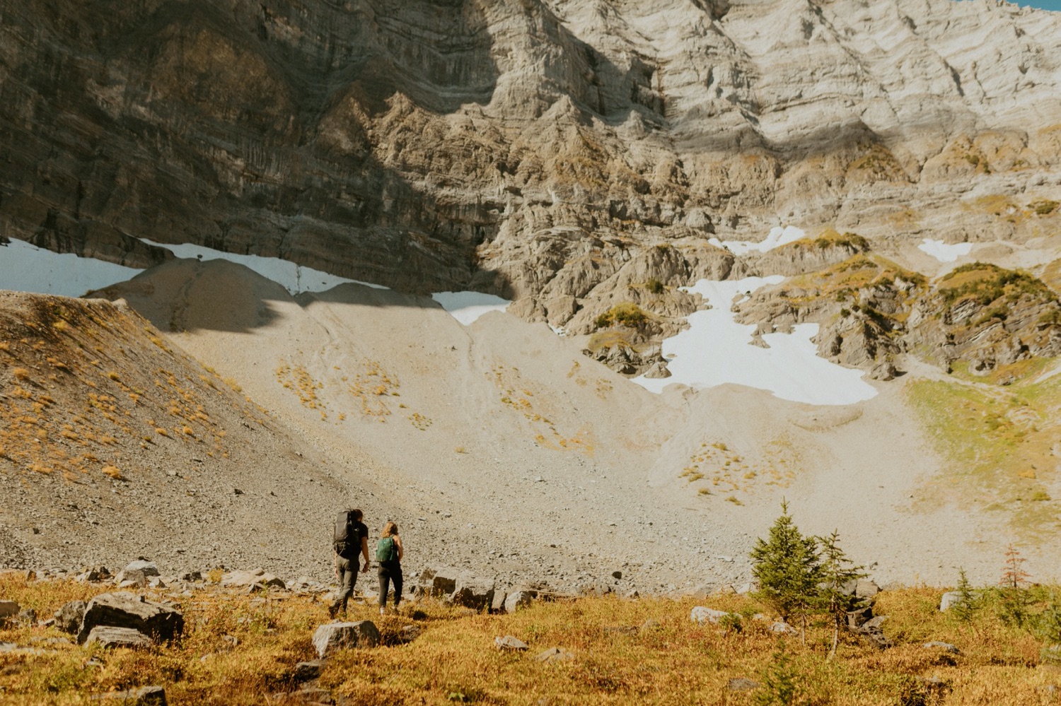
<path id="1" fill-rule="evenodd" d="M 70 581 L 27 582 L 0 578 L 0 593 L 38 615 L 68 600 L 87 600 L 106 588 Z M 936 610 L 941 590 L 910 588 L 882 594 L 876 612 L 890 616 L 885 633 L 895 647 L 880 651 L 841 635 L 827 660 L 832 631 L 812 621 L 806 643 L 783 640 L 768 622 L 751 619 L 763 605 L 747 597 L 715 596 L 623 600 L 585 598 L 536 603 L 515 615 L 468 614 L 433 602 L 415 616 L 380 617 L 375 607 L 351 605 L 349 619 L 371 619 L 384 645 L 341 652 L 326 664 L 319 684 L 347 704 L 727 704 L 751 706 L 763 689 L 728 690 L 732 678 L 764 683 L 790 660 L 799 704 L 884 706 L 918 701 L 925 682 L 947 685 L 945 703 L 1025 706 L 1039 704 L 1037 688 L 1061 681 L 1039 667 L 1044 642 L 1007 625 L 988 605 L 971 623 Z M 1041 599 L 1045 589 L 1036 596 Z M 159 599 L 161 594 L 151 598 Z M 171 704 L 262 704 L 295 691 L 294 666 L 315 655 L 310 638 L 326 622 L 324 604 L 285 594 L 268 599 L 210 588 L 178 597 L 182 639 L 146 652 L 103 651 L 58 645 L 42 654 L 0 653 L 0 704 L 83 704 L 93 693 L 161 685 Z M 737 613 L 740 626 L 698 625 L 693 605 Z M 1041 610 L 1033 605 L 1032 611 Z M 416 623 L 421 636 L 405 646 L 397 636 Z M 610 630 L 624 628 L 627 630 Z M 529 646 L 525 653 L 493 647 L 499 635 Z M 33 645 L 58 637 L 55 629 L 0 630 L 0 641 Z M 230 638 L 236 638 L 233 646 Z M 958 646 L 951 655 L 923 643 Z M 574 659 L 543 664 L 538 653 L 563 648 Z M 49 646 L 51 649 L 51 646 Z M 86 667 L 90 658 L 101 663 Z"/>

